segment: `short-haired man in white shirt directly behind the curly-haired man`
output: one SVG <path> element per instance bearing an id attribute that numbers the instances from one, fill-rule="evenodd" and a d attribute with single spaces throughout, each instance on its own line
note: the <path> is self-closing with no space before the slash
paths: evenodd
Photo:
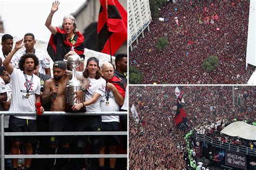
<path id="1" fill-rule="evenodd" d="M 46 54 L 44 51 L 35 48 L 35 44 L 35 36 L 32 33 L 26 33 L 24 36 L 25 49 L 22 49 L 14 55 L 14 57 L 11 60 L 12 66 L 14 66 L 15 68 L 19 68 L 18 64 L 19 60 L 21 59 L 21 56 L 26 53 L 33 53 L 37 56 L 39 60 L 39 73 L 48 74 L 51 76 L 50 56 Z"/>

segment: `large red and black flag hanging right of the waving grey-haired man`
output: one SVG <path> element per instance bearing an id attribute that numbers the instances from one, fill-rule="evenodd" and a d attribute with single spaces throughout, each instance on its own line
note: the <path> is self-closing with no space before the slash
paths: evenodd
<path id="1" fill-rule="evenodd" d="M 97 33 L 98 51 L 105 54 L 116 53 L 127 39 L 127 12 L 118 0 L 100 0 Z"/>

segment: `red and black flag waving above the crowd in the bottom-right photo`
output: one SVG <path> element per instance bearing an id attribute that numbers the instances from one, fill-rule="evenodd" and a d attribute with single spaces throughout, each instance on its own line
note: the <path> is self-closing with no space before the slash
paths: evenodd
<path id="1" fill-rule="evenodd" d="M 187 115 L 182 105 L 177 102 L 176 115 L 174 116 L 174 124 L 177 128 L 183 128 L 187 126 Z"/>

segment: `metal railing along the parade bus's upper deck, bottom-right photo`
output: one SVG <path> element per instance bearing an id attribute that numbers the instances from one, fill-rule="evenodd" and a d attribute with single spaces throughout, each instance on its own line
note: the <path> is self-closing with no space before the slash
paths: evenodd
<path id="1" fill-rule="evenodd" d="M 207 143 L 207 144 L 211 144 L 212 146 L 215 146 L 215 147 L 223 148 L 225 150 L 239 152 L 239 153 L 245 153 L 247 155 L 253 155 L 254 157 L 256 156 L 256 150 L 254 148 L 253 148 L 253 150 L 251 150 L 250 147 L 235 145 L 235 144 L 231 144 L 231 143 L 227 143 L 227 142 L 223 143 L 222 141 L 212 139 L 211 137 L 208 137 L 205 134 L 196 133 L 196 140 L 203 141 L 204 145 L 205 145 L 205 143 Z"/>

